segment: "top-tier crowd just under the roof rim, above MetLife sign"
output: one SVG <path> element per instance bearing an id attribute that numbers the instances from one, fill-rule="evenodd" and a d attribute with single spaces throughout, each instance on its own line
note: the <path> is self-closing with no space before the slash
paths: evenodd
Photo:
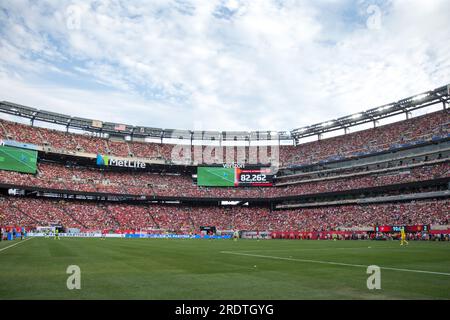
<path id="1" fill-rule="evenodd" d="M 350 157 L 358 154 L 378 152 L 398 147 L 402 144 L 430 141 L 436 138 L 450 135 L 450 113 L 448 110 L 433 112 L 427 115 L 415 117 L 409 120 L 396 122 L 340 135 L 319 141 L 302 143 L 297 146 L 280 146 L 279 158 L 282 165 L 303 165 L 317 163 L 322 160 Z M 13 139 L 19 142 L 33 143 L 36 145 L 51 146 L 67 151 L 80 151 L 87 153 L 111 154 L 122 157 L 140 157 L 148 159 L 172 160 L 173 144 L 146 143 L 137 141 L 115 141 L 112 139 L 88 136 L 76 133 L 68 133 L 58 130 L 46 129 L 37 126 L 18 124 L 0 119 L 0 138 Z M 226 147 L 217 147 L 209 150 L 202 147 L 202 156 L 197 154 L 195 148 L 189 146 L 183 149 L 191 153 L 192 159 L 200 161 L 214 161 L 229 163 L 238 160 L 238 153 L 245 155 L 245 161 L 250 157 L 256 157 L 255 150 L 248 147 L 234 147 L 234 155 L 224 151 Z M 190 149 L 190 150 L 189 150 Z M 258 158 L 259 163 L 267 163 L 270 158 L 278 157 L 268 148 L 268 155 Z M 208 151 L 209 150 L 209 151 Z M 207 159 L 206 159 L 207 158 Z"/>

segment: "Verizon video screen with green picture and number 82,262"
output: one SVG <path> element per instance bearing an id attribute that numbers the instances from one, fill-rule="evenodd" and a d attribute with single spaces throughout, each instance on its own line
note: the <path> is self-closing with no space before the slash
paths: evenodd
<path id="1" fill-rule="evenodd" d="M 205 187 L 269 187 L 273 183 L 270 168 L 197 167 L 197 185 Z"/>

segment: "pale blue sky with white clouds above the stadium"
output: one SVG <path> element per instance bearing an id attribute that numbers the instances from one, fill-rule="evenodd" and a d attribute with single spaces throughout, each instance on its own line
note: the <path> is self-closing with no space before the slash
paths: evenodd
<path id="1" fill-rule="evenodd" d="M 450 83 L 449 12 L 448 0 L 2 0 L 0 100 L 287 131 Z"/>

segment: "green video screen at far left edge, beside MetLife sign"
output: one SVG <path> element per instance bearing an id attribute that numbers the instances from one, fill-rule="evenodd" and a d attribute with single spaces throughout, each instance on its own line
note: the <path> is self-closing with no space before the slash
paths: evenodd
<path id="1" fill-rule="evenodd" d="M 36 173 L 37 151 L 0 146 L 0 170 Z"/>

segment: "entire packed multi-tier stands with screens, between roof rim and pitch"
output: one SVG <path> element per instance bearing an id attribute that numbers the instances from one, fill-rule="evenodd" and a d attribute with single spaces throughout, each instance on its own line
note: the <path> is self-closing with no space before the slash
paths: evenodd
<path id="1" fill-rule="evenodd" d="M 265 147 L 236 145 L 230 156 L 224 146 L 32 124 L 0 120 L 3 226 L 186 233 L 448 224 L 446 108 L 315 142 L 278 141 L 263 155 Z"/>

